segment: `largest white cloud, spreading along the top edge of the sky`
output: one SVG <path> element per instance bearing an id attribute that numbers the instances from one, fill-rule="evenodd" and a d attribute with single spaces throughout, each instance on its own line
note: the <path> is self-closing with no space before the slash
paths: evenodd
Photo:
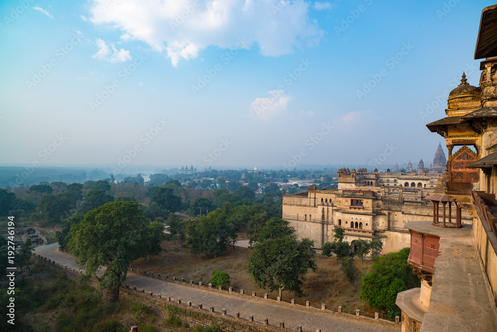
<path id="1" fill-rule="evenodd" d="M 195 6 L 193 3 L 197 3 Z M 295 47 L 314 46 L 323 36 L 316 21 L 309 18 L 309 3 L 279 0 L 92 0 L 94 24 L 122 30 L 123 35 L 166 51 L 174 66 L 181 59 L 196 58 L 208 46 L 242 48 L 257 44 L 265 56 L 291 53 Z M 125 40 L 125 38 L 122 38 Z"/>

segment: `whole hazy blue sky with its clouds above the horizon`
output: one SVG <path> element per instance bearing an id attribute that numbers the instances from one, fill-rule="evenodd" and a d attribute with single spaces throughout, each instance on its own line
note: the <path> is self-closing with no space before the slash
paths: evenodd
<path id="1" fill-rule="evenodd" d="M 0 165 L 427 167 L 492 4 L 2 0 Z"/>

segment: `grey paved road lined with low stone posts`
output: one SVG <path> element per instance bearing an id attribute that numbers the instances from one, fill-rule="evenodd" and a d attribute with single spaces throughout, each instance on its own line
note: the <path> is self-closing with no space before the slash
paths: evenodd
<path id="1" fill-rule="evenodd" d="M 57 250 L 57 244 L 37 247 L 35 252 L 44 257 L 55 260 L 68 267 L 78 268 L 74 263 L 74 257 L 61 253 Z M 285 322 L 285 327 L 295 328 L 301 325 L 303 329 L 316 331 L 374 331 L 374 332 L 400 332 L 400 326 L 379 324 L 369 321 L 361 321 L 348 317 L 324 314 L 294 307 L 287 307 L 275 303 L 250 300 L 234 295 L 225 295 L 213 291 L 152 279 L 140 275 L 128 274 L 126 284 L 136 286 L 137 289 L 145 289 L 154 294 L 170 296 L 182 301 L 191 301 L 202 304 L 204 307 L 214 307 L 216 310 L 227 309 L 231 313 L 239 312 L 240 315 L 253 316 L 255 320 L 269 319 L 269 323 L 277 325 Z"/>

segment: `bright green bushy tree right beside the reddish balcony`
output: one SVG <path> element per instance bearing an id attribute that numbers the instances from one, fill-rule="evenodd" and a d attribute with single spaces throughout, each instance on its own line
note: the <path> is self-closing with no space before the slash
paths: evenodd
<path id="1" fill-rule="evenodd" d="M 362 276 L 360 298 L 377 310 L 397 310 L 397 293 L 420 286 L 409 267 L 410 248 L 374 258 L 373 272 Z"/>

